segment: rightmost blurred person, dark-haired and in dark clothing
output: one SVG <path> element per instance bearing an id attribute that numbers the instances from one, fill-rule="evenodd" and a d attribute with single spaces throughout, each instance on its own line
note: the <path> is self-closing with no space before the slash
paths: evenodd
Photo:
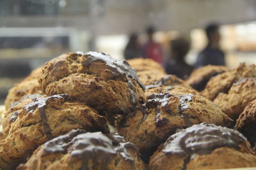
<path id="1" fill-rule="evenodd" d="M 218 24 L 209 24 L 205 28 L 208 44 L 199 53 L 195 67 L 202 67 L 208 64 L 225 65 L 225 53 L 220 49 L 220 32 Z"/>

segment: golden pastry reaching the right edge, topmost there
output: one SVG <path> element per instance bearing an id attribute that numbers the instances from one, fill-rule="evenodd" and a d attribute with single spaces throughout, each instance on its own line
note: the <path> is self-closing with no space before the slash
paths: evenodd
<path id="1" fill-rule="evenodd" d="M 256 66 L 254 64 L 246 66 L 242 63 L 231 71 L 212 77 L 201 94 L 213 101 L 219 93 L 227 93 L 233 83 L 241 78 L 250 77 L 256 77 Z"/>

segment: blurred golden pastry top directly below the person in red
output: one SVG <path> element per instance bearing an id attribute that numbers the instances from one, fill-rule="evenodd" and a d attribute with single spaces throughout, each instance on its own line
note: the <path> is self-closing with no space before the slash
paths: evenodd
<path id="1" fill-rule="evenodd" d="M 152 59 L 130 59 L 127 60 L 132 68 L 134 68 L 137 72 L 140 71 L 157 71 L 159 73 L 166 74 L 164 68 L 156 61 Z"/>

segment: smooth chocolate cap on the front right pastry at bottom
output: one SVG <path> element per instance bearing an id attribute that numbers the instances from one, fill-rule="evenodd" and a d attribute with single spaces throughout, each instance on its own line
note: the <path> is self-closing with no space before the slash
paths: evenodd
<path id="1" fill-rule="evenodd" d="M 191 156 L 209 154 L 216 148 L 240 148 L 243 134 L 227 127 L 202 123 L 177 131 L 164 143 L 162 152 Z"/>

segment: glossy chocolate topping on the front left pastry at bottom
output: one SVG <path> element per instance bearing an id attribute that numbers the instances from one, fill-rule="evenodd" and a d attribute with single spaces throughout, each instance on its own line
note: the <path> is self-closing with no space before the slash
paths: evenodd
<path id="1" fill-rule="evenodd" d="M 132 143 L 125 142 L 117 133 L 104 135 L 102 132 L 85 132 L 72 130 L 65 135 L 47 141 L 44 144 L 44 155 L 52 153 L 69 153 L 71 159 L 82 160 L 81 169 L 86 169 L 92 160 L 93 169 L 107 167 L 109 162 L 120 154 L 125 160 L 134 162 L 127 148 L 135 148 Z"/>

